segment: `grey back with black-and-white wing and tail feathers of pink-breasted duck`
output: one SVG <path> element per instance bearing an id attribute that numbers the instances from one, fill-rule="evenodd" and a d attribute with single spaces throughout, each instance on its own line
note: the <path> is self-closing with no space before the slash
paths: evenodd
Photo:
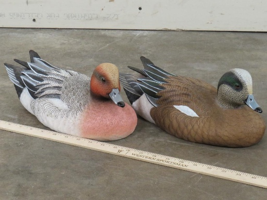
<path id="1" fill-rule="evenodd" d="M 64 70 L 42 60 L 30 51 L 31 62 L 15 61 L 23 66 L 5 63 L 10 80 L 15 84 L 18 96 L 27 88 L 33 99 L 60 99 L 69 109 L 83 109 L 89 101 L 90 78 Z M 19 90 L 19 91 L 18 91 Z"/>

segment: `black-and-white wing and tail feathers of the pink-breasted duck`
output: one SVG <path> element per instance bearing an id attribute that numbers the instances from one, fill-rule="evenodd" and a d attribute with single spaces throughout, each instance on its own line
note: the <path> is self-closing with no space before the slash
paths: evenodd
<path id="1" fill-rule="evenodd" d="M 30 50 L 31 62 L 15 59 L 22 66 L 5 63 L 10 80 L 15 84 L 18 97 L 26 87 L 33 99 L 40 97 L 59 98 L 62 82 L 77 72 L 54 67 Z"/>

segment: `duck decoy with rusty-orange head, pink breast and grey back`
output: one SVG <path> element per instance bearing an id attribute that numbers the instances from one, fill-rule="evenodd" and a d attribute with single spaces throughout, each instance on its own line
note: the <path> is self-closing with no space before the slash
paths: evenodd
<path id="1" fill-rule="evenodd" d="M 54 67 L 30 51 L 31 62 L 5 63 L 21 104 L 49 128 L 96 140 L 130 135 L 137 124 L 134 109 L 120 96 L 118 69 L 102 63 L 92 77 Z"/>

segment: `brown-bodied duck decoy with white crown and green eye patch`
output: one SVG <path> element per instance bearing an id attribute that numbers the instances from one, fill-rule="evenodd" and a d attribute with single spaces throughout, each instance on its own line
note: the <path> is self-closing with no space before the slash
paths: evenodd
<path id="1" fill-rule="evenodd" d="M 216 89 L 195 78 L 170 74 L 145 57 L 141 61 L 142 70 L 129 66 L 138 77 L 120 74 L 120 81 L 144 119 L 173 136 L 209 145 L 248 147 L 263 137 L 265 122 L 248 71 L 226 72 Z"/>

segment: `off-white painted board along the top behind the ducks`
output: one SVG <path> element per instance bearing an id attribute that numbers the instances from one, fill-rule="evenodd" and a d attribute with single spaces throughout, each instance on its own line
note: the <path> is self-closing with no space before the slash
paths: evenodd
<path id="1" fill-rule="evenodd" d="M 0 0 L 0 27 L 267 31 L 267 1 Z"/>

